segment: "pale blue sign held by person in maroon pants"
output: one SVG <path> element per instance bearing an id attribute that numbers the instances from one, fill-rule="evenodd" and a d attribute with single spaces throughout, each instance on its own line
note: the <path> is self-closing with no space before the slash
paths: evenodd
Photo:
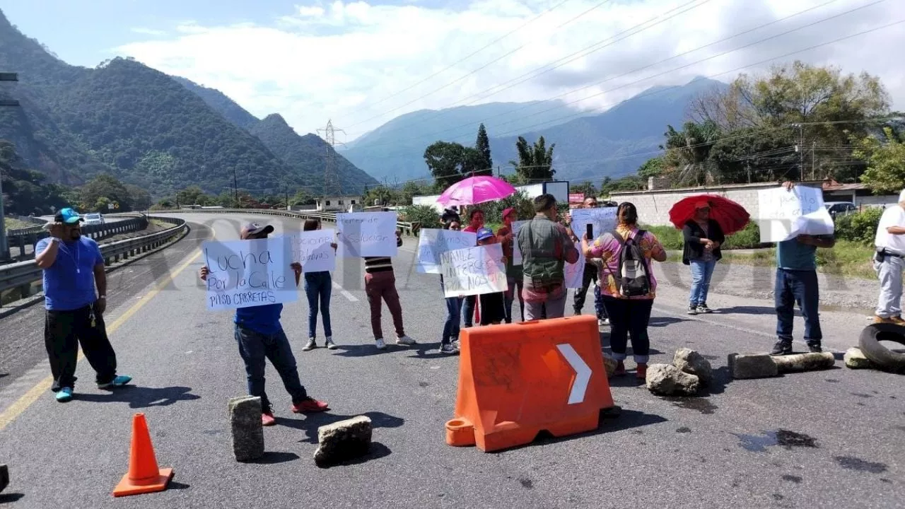
<path id="1" fill-rule="evenodd" d="M 395 212 L 337 214 L 338 256 L 395 256 Z"/>

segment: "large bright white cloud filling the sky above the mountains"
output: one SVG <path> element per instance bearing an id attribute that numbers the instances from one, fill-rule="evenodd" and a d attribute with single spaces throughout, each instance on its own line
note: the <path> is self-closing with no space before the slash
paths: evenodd
<path id="1" fill-rule="evenodd" d="M 431 6 L 427 0 L 409 5 L 334 0 L 296 5 L 271 25 L 185 22 L 175 27 L 174 35 L 129 43 L 118 51 L 163 72 L 224 91 L 259 117 L 280 112 L 300 133 L 313 132 L 332 119 L 353 139 L 395 116 L 425 108 L 561 96 L 575 101 L 576 108 L 605 109 L 652 86 L 680 84 L 697 75 L 729 81 L 738 72 L 726 72 L 738 67 L 905 19 L 905 2 L 883 2 L 780 35 L 864 4 L 855 0 L 701 0 L 693 5 L 687 0 L 614 0 L 586 13 L 597 4 L 598 0 L 571 0 L 532 21 L 553 3 L 474 0 L 452 9 Z M 817 8 L 698 49 L 811 7 Z M 670 18 L 673 14 L 677 15 Z M 892 49 L 905 45 L 903 27 L 825 45 L 782 61 L 800 59 L 834 64 L 843 72 L 879 75 L 893 102 L 902 107 L 905 71 Z M 776 38 L 714 56 L 770 36 Z M 671 59 L 686 52 L 691 53 Z M 572 62 L 565 62 L 568 59 Z M 671 60 L 657 63 L 666 59 Z M 544 67 L 550 62 L 562 65 L 543 74 L 535 72 L 552 67 Z M 516 80 L 523 74 L 529 76 Z M 418 82 L 422 83 L 413 87 Z M 491 87 L 496 88 L 479 94 Z M 400 91 L 404 92 L 397 94 Z"/>

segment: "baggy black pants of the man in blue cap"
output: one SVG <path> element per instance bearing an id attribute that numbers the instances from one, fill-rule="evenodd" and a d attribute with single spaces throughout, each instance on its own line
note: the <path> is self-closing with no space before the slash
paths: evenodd
<path id="1" fill-rule="evenodd" d="M 97 383 L 110 383 L 116 378 L 116 352 L 107 339 L 107 327 L 100 313 L 94 312 L 92 306 L 73 311 L 47 311 L 44 317 L 44 346 L 51 362 L 53 392 L 74 387 L 79 343 L 85 358 L 97 373 Z"/>

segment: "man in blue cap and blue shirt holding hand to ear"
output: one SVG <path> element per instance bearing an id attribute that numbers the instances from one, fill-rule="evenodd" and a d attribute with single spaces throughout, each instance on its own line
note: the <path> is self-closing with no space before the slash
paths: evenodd
<path id="1" fill-rule="evenodd" d="M 98 389 L 126 385 L 132 377 L 116 374 L 116 352 L 107 338 L 107 274 L 98 243 L 81 236 L 79 213 L 62 208 L 48 226 L 50 236 L 34 246 L 34 261 L 43 269 L 44 346 L 60 402 L 72 399 L 75 366 L 81 351 L 97 373 Z M 97 293 L 95 293 L 95 287 Z"/>

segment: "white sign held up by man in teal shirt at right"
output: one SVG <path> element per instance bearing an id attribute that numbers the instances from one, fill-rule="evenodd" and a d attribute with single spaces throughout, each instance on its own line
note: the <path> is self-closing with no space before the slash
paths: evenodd
<path id="1" fill-rule="evenodd" d="M 782 242 L 797 235 L 832 235 L 833 218 L 819 187 L 795 186 L 757 191 L 760 242 Z"/>

